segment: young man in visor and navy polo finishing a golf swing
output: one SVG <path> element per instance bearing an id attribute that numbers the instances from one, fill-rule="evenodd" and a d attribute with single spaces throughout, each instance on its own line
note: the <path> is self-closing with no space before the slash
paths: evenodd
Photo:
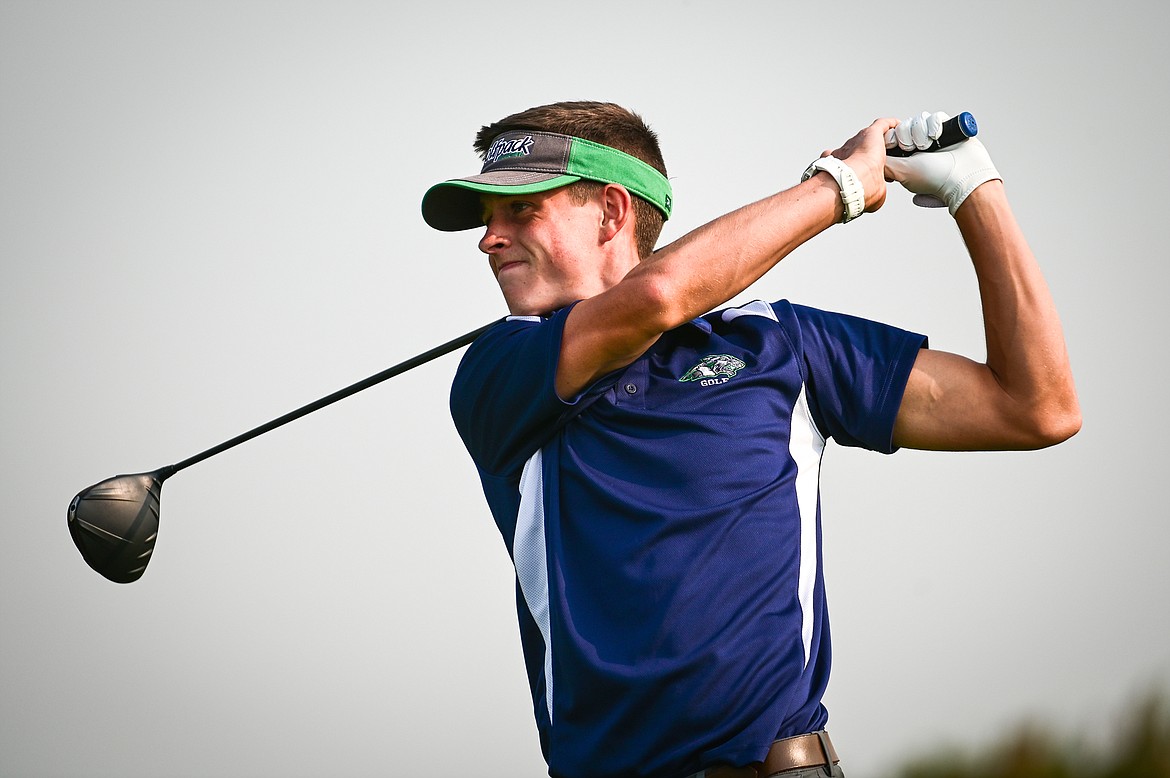
<path id="1" fill-rule="evenodd" d="M 1080 426 L 1060 323 L 977 140 L 878 119 L 790 190 L 653 252 L 670 213 L 654 133 L 606 103 L 483 128 L 483 171 L 432 187 L 480 227 L 512 316 L 460 364 L 452 413 L 516 566 L 552 776 L 840 776 L 818 478 L 827 439 L 893 452 L 1035 448 Z M 797 246 L 947 205 L 975 263 L 985 364 L 789 302 L 710 314 Z"/>

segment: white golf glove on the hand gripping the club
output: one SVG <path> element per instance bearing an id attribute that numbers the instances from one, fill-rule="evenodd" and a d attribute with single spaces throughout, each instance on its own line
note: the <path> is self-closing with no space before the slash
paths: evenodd
<path id="1" fill-rule="evenodd" d="M 928 149 L 942 133 L 943 112 L 911 116 L 886 133 L 886 147 L 906 151 Z M 980 184 L 1003 177 L 991 163 L 987 150 L 976 138 L 968 138 L 938 151 L 909 157 L 887 157 L 886 173 L 914 192 L 914 205 L 925 208 L 947 206 L 954 216 L 966 195 Z"/>

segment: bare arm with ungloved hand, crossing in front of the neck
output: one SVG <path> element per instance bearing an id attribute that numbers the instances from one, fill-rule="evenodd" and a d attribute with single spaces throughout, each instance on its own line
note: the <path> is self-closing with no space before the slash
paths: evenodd
<path id="1" fill-rule="evenodd" d="M 867 212 L 886 200 L 885 135 L 895 124 L 878 119 L 833 152 L 861 179 Z M 837 183 L 821 172 L 655 252 L 570 312 L 557 393 L 576 397 L 601 376 L 631 364 L 661 333 L 722 305 L 798 246 L 841 221 L 842 211 Z"/>

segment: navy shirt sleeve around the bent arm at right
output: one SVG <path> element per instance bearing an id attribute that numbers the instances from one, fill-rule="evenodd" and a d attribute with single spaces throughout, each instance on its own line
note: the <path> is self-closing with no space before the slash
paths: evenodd
<path id="1" fill-rule="evenodd" d="M 792 305 L 810 408 L 841 446 L 890 454 L 894 421 L 925 336 L 855 316 Z"/>

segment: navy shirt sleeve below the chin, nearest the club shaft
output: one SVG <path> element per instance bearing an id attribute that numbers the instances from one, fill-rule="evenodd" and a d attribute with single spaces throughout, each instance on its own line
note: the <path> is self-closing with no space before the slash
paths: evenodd
<path id="1" fill-rule="evenodd" d="M 467 350 L 450 391 L 463 445 L 487 474 L 518 471 L 573 404 L 556 392 L 560 337 L 570 309 L 548 319 L 509 318 Z"/>

